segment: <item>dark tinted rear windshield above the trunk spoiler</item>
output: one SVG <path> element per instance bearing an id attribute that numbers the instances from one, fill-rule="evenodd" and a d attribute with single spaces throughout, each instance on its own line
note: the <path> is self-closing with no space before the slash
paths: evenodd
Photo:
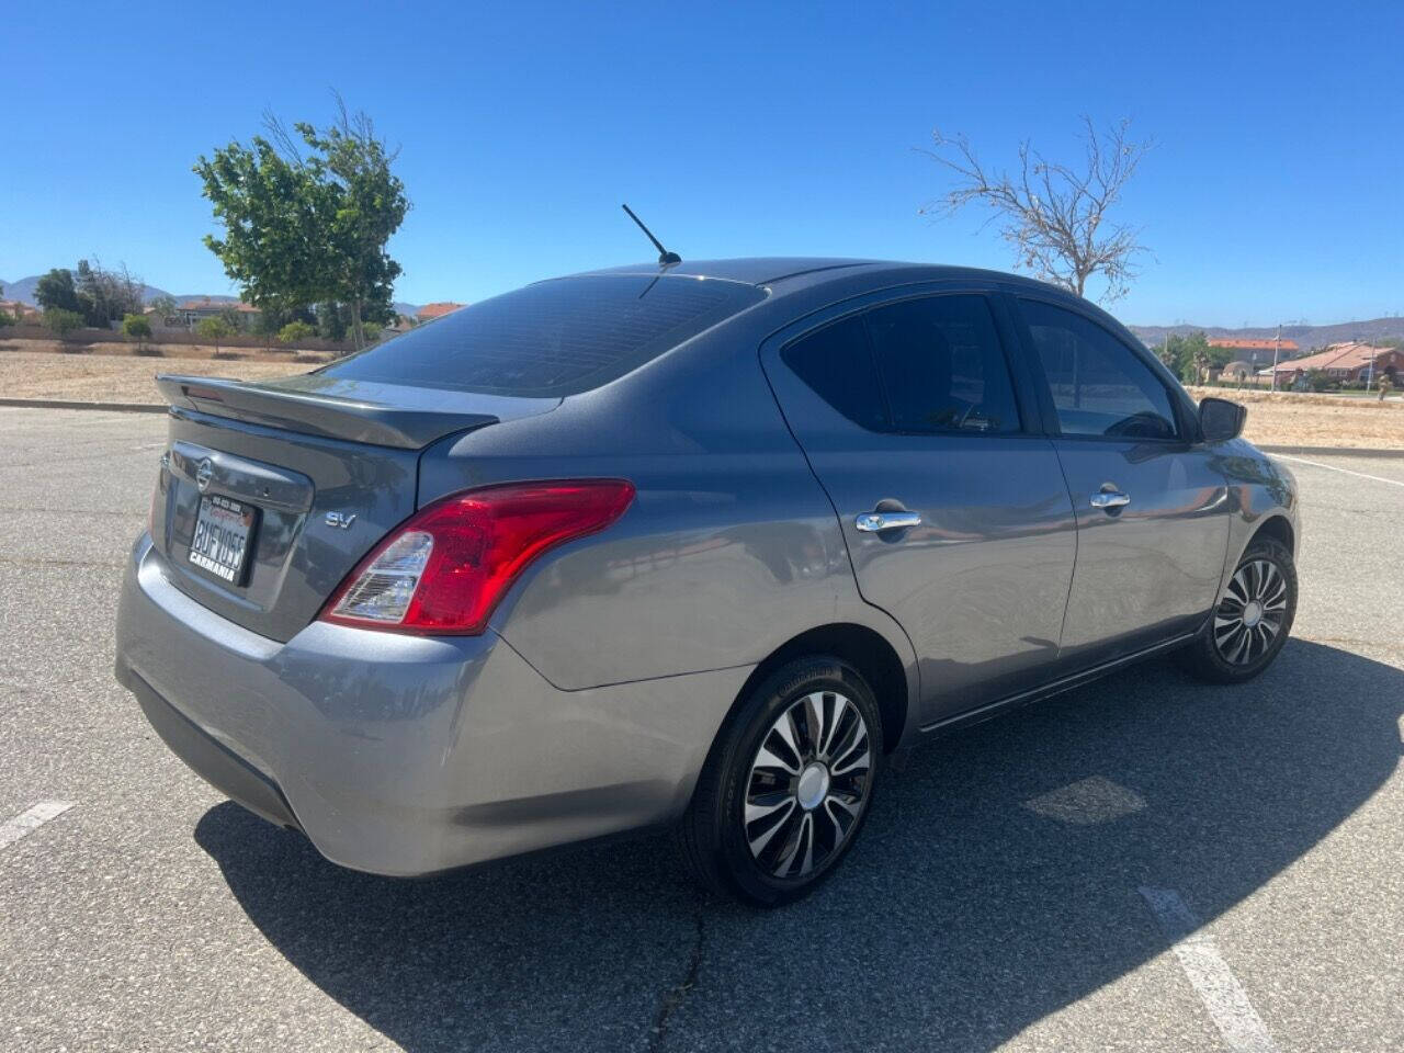
<path id="1" fill-rule="evenodd" d="M 484 395 L 578 395 L 764 296 L 754 285 L 684 275 L 559 278 L 455 310 L 319 372 Z"/>

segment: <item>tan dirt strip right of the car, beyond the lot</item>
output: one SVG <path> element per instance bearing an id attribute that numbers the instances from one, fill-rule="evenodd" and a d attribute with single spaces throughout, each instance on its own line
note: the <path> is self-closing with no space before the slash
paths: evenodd
<path id="1" fill-rule="evenodd" d="M 1404 399 L 1346 399 L 1294 392 L 1236 392 L 1191 388 L 1248 407 L 1244 437 L 1268 446 L 1404 449 Z"/>

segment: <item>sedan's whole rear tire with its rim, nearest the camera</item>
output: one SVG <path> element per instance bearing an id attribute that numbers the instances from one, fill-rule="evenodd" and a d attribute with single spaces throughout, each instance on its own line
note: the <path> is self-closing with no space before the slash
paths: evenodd
<path id="1" fill-rule="evenodd" d="M 708 889 L 757 906 L 807 896 L 858 840 L 882 743 L 878 702 L 852 665 L 786 663 L 717 734 L 677 828 L 684 865 Z"/>

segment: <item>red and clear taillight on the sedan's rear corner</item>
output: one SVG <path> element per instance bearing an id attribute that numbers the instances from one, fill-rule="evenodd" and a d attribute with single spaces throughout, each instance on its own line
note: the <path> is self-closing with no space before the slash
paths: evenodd
<path id="1" fill-rule="evenodd" d="M 622 479 L 508 483 L 416 512 L 337 588 L 322 619 L 364 629 L 480 633 L 526 566 L 595 534 L 633 500 Z"/>

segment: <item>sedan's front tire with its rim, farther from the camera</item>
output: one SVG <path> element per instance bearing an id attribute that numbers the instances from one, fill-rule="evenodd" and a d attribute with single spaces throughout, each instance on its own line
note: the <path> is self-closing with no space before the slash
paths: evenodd
<path id="1" fill-rule="evenodd" d="M 1213 616 L 1179 653 L 1181 665 L 1210 684 L 1252 680 L 1278 657 L 1296 614 L 1292 552 L 1275 538 L 1254 538 Z"/>

